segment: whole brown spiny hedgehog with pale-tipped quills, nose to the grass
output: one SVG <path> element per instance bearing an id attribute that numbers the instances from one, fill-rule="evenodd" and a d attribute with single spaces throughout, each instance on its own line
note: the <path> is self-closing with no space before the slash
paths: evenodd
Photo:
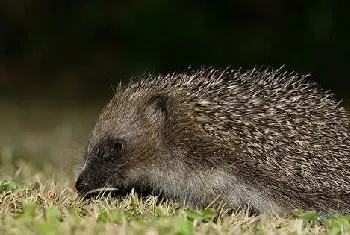
<path id="1" fill-rule="evenodd" d="M 103 109 L 75 186 L 254 214 L 348 213 L 350 132 L 340 104 L 309 75 L 283 68 L 143 75 Z"/>

